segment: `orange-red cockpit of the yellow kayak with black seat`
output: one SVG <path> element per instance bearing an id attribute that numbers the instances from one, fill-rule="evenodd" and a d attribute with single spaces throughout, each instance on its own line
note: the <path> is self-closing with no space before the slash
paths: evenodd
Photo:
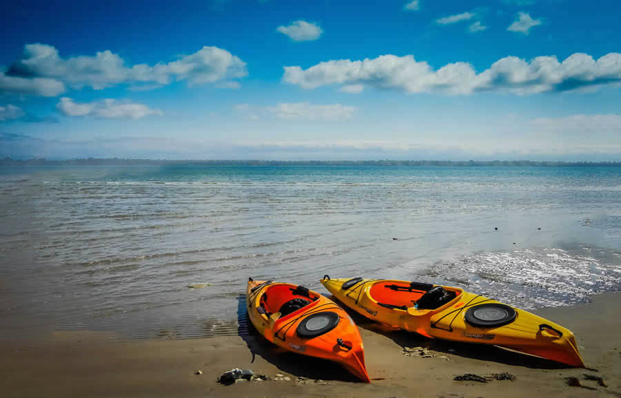
<path id="1" fill-rule="evenodd" d="M 397 311 L 433 310 L 452 302 L 461 293 L 462 289 L 398 280 L 375 282 L 368 291 L 377 305 Z"/>

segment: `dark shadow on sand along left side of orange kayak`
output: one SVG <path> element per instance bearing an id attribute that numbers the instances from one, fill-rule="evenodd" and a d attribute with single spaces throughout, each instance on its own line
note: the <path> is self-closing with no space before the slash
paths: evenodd
<path id="1" fill-rule="evenodd" d="M 258 355 L 279 370 L 297 377 L 335 381 L 359 381 L 357 377 L 335 362 L 292 353 L 269 342 L 257 332 L 253 323 L 250 322 L 248 312 L 246 311 L 245 294 L 237 296 L 237 324 L 237 333 L 239 337 L 242 337 L 252 354 L 250 362 L 248 362 L 248 368 L 252 368 Z M 260 369 L 253 370 L 261 372 Z"/>

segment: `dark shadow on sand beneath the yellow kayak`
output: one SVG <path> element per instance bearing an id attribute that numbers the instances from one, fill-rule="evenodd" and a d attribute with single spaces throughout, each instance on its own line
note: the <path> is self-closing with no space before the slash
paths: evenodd
<path id="1" fill-rule="evenodd" d="M 351 316 L 351 318 L 354 320 L 359 328 L 362 328 L 366 331 L 372 331 L 380 335 L 384 335 L 389 339 L 392 339 L 393 342 L 400 345 L 402 348 L 422 347 L 446 355 L 457 355 L 469 359 L 479 359 L 481 361 L 497 362 L 510 366 L 524 366 L 526 368 L 569 368 L 569 366 L 560 364 L 558 362 L 553 362 L 548 359 L 535 357 L 533 355 L 517 353 L 515 351 L 506 350 L 497 346 L 464 342 L 450 342 L 448 340 L 442 339 L 430 339 L 428 337 L 419 335 L 418 333 L 391 328 L 390 326 L 373 322 L 372 320 L 369 320 L 368 318 L 360 315 L 359 313 L 356 313 L 351 308 L 348 308 L 348 306 L 344 305 L 342 302 L 339 302 L 339 300 L 333 295 L 328 296 L 328 298 L 339 304 L 339 306 L 341 306 L 341 308 L 343 308 Z M 369 360 L 369 358 L 367 358 L 367 360 Z"/>

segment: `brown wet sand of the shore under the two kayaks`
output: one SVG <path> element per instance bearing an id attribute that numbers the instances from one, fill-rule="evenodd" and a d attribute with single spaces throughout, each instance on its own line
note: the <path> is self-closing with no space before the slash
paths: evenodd
<path id="1" fill-rule="evenodd" d="M 536 312 L 575 333 L 590 369 L 388 331 L 353 315 L 368 373 L 375 379 L 371 384 L 356 382 L 335 364 L 286 353 L 257 336 L 127 341 L 79 331 L 52 333 L 37 342 L 0 342 L 0 391 L 2 397 L 621 397 L 621 294 Z M 422 346 L 437 356 L 407 357 L 405 346 Z M 235 367 L 282 373 L 290 381 L 217 384 L 220 373 Z M 202 375 L 195 375 L 196 370 Z M 517 379 L 453 381 L 464 373 L 502 372 Z M 608 386 L 584 380 L 584 373 L 603 377 Z M 311 380 L 300 384 L 299 376 Z M 587 388 L 568 386 L 566 377 L 578 377 Z"/>

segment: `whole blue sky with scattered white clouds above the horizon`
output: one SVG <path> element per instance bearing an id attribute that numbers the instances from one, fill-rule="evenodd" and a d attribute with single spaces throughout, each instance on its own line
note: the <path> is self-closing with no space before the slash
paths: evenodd
<path id="1" fill-rule="evenodd" d="M 621 160 L 618 1 L 12 1 L 0 156 Z"/>

